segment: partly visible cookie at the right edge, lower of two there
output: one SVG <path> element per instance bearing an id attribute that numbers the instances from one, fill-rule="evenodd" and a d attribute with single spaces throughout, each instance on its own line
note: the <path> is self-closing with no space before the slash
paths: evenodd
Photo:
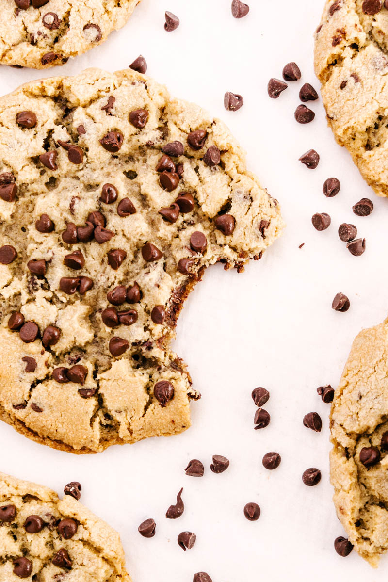
<path id="1" fill-rule="evenodd" d="M 331 414 L 334 505 L 372 566 L 388 549 L 388 319 L 355 338 Z"/>

